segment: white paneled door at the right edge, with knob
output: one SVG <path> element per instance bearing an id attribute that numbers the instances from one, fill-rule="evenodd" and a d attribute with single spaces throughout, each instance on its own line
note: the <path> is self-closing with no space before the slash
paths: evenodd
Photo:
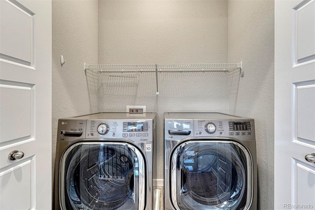
<path id="1" fill-rule="evenodd" d="M 315 0 L 275 0 L 275 209 L 315 210 Z"/>

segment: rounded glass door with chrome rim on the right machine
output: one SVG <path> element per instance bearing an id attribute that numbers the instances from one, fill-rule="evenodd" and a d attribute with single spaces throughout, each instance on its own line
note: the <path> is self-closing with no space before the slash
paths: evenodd
<path id="1" fill-rule="evenodd" d="M 243 210 L 252 203 L 252 156 L 236 141 L 189 140 L 170 156 L 176 210 Z"/>

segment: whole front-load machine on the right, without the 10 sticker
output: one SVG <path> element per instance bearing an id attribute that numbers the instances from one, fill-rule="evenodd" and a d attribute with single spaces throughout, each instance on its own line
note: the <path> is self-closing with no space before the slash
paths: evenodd
<path id="1" fill-rule="evenodd" d="M 165 210 L 256 210 L 254 120 L 164 113 Z"/>

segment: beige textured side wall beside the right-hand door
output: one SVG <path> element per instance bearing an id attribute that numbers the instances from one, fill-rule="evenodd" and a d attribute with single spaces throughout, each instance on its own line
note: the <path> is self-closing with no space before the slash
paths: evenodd
<path id="1" fill-rule="evenodd" d="M 228 1 L 229 113 L 255 119 L 258 208 L 274 209 L 274 1 Z"/>

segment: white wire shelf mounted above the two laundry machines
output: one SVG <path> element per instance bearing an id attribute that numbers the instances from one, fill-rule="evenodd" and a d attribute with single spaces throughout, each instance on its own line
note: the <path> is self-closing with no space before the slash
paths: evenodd
<path id="1" fill-rule="evenodd" d="M 241 71 L 242 62 L 233 64 L 143 64 L 143 65 L 84 64 L 84 70 L 85 71 L 97 70 L 98 82 L 113 85 L 117 84 L 137 85 L 138 84 L 137 73 L 155 72 L 158 94 L 158 72 L 209 72 L 209 71 L 229 72 L 233 70 Z"/>

